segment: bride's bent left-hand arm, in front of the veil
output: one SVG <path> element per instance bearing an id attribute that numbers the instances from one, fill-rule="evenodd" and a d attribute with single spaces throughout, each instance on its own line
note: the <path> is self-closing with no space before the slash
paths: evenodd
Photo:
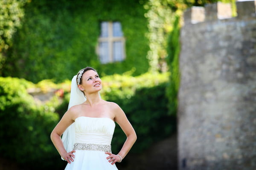
<path id="1" fill-rule="evenodd" d="M 70 108 L 61 118 L 60 122 L 55 126 L 55 128 L 52 130 L 51 133 L 51 140 L 56 149 L 58 150 L 58 153 L 61 155 L 61 157 L 66 160 L 68 163 L 71 163 L 73 161 L 74 152 L 75 150 L 72 150 L 71 152 L 67 153 L 67 151 L 64 148 L 63 142 L 61 140 L 61 135 L 64 133 L 64 131 L 73 123 L 73 108 Z"/>

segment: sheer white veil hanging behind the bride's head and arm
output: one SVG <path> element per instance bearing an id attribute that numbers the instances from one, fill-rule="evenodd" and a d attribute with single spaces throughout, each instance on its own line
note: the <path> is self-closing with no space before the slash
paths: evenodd
<path id="1" fill-rule="evenodd" d="M 83 92 L 81 92 L 76 83 L 76 76 L 73 77 L 71 82 L 71 91 L 70 91 L 70 101 L 68 105 L 68 109 L 70 109 L 74 105 L 79 105 L 86 101 Z M 67 109 L 67 110 L 68 110 Z M 62 134 L 62 142 L 64 144 L 64 148 L 67 152 L 73 150 L 73 145 L 75 143 L 76 131 L 75 131 L 75 123 L 72 123 Z M 61 158 L 62 159 L 62 158 Z M 64 159 L 63 159 L 64 160 Z"/>

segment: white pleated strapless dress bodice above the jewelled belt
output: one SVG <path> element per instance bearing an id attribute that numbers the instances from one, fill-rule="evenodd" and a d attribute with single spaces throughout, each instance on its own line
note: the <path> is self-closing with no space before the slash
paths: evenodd
<path id="1" fill-rule="evenodd" d="M 115 123 L 110 118 L 81 116 L 75 120 L 76 143 L 111 144 Z"/>

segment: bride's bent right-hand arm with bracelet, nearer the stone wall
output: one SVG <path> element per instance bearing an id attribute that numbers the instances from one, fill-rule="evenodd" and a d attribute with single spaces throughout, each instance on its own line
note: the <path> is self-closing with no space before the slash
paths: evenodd
<path id="1" fill-rule="evenodd" d="M 127 155 L 133 144 L 135 143 L 137 139 L 137 135 L 135 133 L 134 128 L 132 127 L 131 123 L 128 121 L 124 111 L 117 105 L 116 103 L 113 103 L 113 109 L 115 113 L 115 121 L 116 123 L 122 128 L 123 132 L 125 133 L 127 139 L 125 143 L 122 146 L 122 149 L 119 151 L 118 155 L 121 156 L 122 159 Z M 114 159 L 109 160 L 109 162 L 113 161 L 112 164 L 114 164 L 116 161 L 121 161 L 119 156 L 110 156 L 107 157 L 107 159 Z M 112 154 L 113 155 L 113 154 Z"/>

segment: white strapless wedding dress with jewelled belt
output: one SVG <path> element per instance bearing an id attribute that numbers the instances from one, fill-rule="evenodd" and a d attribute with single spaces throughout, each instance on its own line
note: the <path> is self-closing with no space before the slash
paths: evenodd
<path id="1" fill-rule="evenodd" d="M 75 159 L 65 170 L 117 170 L 106 159 L 111 152 L 115 123 L 109 118 L 81 116 L 75 120 Z"/>

